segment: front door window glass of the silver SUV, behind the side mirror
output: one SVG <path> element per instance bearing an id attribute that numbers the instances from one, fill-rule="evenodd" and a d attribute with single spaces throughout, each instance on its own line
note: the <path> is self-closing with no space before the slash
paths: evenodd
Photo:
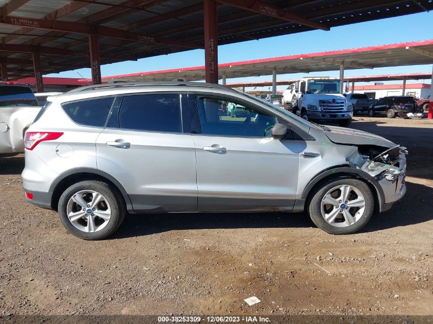
<path id="1" fill-rule="evenodd" d="M 271 114 L 231 99 L 196 96 L 202 134 L 265 137 L 277 123 Z"/>

